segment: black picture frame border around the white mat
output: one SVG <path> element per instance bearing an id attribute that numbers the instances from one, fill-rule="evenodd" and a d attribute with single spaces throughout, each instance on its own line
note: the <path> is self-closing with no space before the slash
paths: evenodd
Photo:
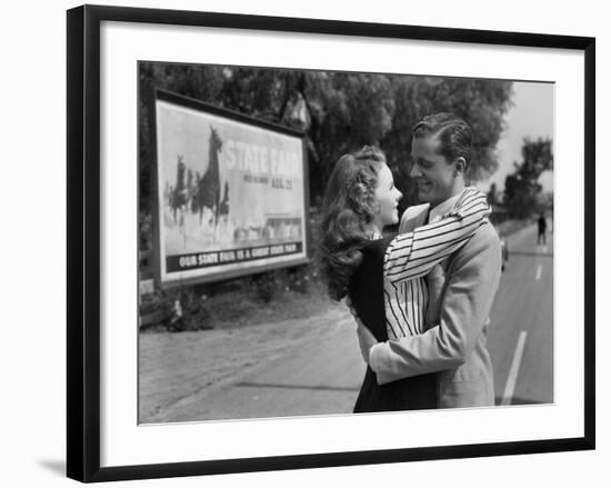
<path id="1" fill-rule="evenodd" d="M 104 21 L 539 47 L 584 53 L 584 418 L 583 437 L 345 451 L 142 466 L 100 466 L 100 24 Z M 534 452 L 595 446 L 595 39 L 335 20 L 82 6 L 68 11 L 67 472 L 110 481 L 338 467 Z"/>

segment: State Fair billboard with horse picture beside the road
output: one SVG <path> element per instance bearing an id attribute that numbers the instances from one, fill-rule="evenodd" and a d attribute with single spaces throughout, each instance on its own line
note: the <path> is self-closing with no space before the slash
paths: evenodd
<path id="1" fill-rule="evenodd" d="M 159 90 L 156 141 L 159 283 L 308 260 L 301 132 Z"/>

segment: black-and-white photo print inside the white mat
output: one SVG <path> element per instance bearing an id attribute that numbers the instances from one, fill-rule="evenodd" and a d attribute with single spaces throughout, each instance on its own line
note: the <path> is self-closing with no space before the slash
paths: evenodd
<path id="1" fill-rule="evenodd" d="M 142 422 L 553 402 L 553 83 L 139 73 Z"/>

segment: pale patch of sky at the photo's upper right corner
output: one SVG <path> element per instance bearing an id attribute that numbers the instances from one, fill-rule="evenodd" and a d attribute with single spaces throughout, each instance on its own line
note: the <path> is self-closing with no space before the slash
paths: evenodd
<path id="1" fill-rule="evenodd" d="M 513 83 L 513 107 L 505 114 L 507 127 L 497 145 L 499 169 L 492 177 L 479 185 L 488 190 L 495 182 L 497 188 L 504 188 L 505 177 L 513 172 L 513 162 L 521 162 L 522 141 L 551 138 L 553 148 L 553 83 L 515 81 Z M 553 190 L 553 173 L 541 175 L 539 182 L 543 191 Z"/>

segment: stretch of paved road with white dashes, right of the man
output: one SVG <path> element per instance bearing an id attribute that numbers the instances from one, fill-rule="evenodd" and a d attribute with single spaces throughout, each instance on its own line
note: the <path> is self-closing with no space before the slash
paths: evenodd
<path id="1" fill-rule="evenodd" d="M 547 246 L 538 246 L 537 226 L 530 226 L 509 238 L 509 251 L 489 337 L 497 402 L 504 394 L 511 405 L 551 402 L 553 235 L 548 233 Z"/>

